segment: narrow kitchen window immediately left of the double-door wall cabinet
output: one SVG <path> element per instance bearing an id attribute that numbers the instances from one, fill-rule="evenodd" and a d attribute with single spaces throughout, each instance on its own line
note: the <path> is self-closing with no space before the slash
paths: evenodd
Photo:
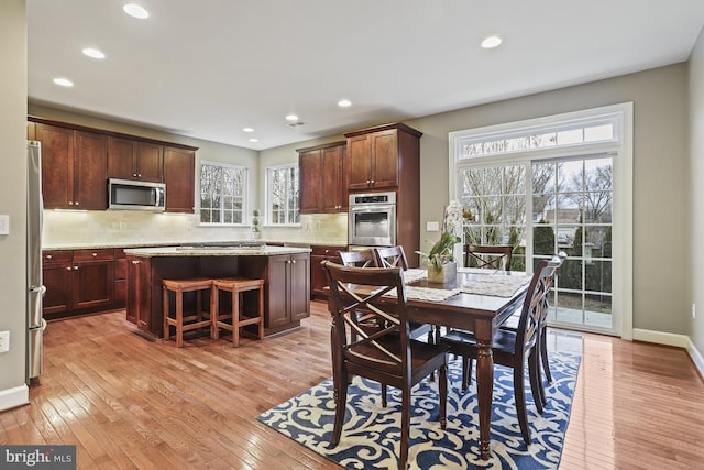
<path id="1" fill-rule="evenodd" d="M 300 223 L 298 164 L 266 168 L 266 201 L 270 225 Z"/>

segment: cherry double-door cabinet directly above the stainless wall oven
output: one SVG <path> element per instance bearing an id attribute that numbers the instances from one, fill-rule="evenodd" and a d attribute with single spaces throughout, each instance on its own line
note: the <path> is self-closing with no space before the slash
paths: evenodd
<path id="1" fill-rule="evenodd" d="M 403 123 L 345 133 L 350 192 L 413 183 L 409 177 L 419 171 L 415 168 L 419 168 L 421 135 Z"/>

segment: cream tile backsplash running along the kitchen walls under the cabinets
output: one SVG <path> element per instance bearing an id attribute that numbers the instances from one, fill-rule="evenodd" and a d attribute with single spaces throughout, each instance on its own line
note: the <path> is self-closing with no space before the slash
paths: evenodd
<path id="1" fill-rule="evenodd" d="M 271 242 L 344 245 L 348 215 L 301 215 L 297 227 L 262 227 Z M 44 211 L 44 248 L 250 240 L 250 227 L 204 227 L 194 214 L 132 210 Z"/>

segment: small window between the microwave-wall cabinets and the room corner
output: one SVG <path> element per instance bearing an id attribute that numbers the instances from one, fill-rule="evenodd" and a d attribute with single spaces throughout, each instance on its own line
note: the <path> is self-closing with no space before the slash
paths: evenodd
<path id="1" fill-rule="evenodd" d="M 226 163 L 200 164 L 200 222 L 244 223 L 249 171 Z"/>

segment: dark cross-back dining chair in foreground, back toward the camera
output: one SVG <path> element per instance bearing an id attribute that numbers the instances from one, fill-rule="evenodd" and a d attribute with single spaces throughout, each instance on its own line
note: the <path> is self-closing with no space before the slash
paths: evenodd
<path id="1" fill-rule="evenodd" d="M 448 348 L 417 341 L 410 337 L 406 311 L 406 288 L 399 267 L 348 267 L 322 262 L 333 303 L 332 363 L 336 386 L 336 415 L 332 445 L 340 442 L 352 375 L 360 375 L 402 391 L 400 451 L 398 468 L 408 461 L 411 389 L 439 370 L 440 427 L 446 427 L 448 397 Z M 354 285 L 354 292 L 351 292 Z M 369 294 L 362 294 L 360 287 Z M 369 291 L 366 291 L 369 289 Z M 395 292 L 395 295 L 386 295 Z M 373 313 L 384 328 L 367 330 L 355 321 L 358 308 Z M 355 335 L 348 336 L 348 330 Z M 400 332 L 400 334 L 399 334 Z M 348 337 L 355 339 L 348 342 Z"/>

